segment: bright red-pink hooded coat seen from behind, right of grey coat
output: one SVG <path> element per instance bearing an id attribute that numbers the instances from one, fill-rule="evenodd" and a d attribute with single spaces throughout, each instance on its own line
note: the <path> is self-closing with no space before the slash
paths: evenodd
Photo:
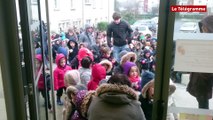
<path id="1" fill-rule="evenodd" d="M 106 78 L 106 69 L 101 64 L 94 64 L 92 66 L 92 78 L 87 84 L 88 90 L 96 90 L 99 82 Z"/>

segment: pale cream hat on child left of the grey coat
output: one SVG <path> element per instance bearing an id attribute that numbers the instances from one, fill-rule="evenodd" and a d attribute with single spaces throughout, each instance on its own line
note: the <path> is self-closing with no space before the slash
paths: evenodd
<path id="1" fill-rule="evenodd" d="M 80 82 L 80 73 L 78 70 L 69 70 L 65 73 L 64 82 L 66 86 L 76 86 Z"/>

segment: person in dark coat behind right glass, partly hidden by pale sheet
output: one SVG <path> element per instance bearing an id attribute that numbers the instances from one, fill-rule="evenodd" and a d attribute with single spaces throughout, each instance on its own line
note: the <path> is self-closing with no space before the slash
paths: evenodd
<path id="1" fill-rule="evenodd" d="M 201 33 L 213 33 L 213 15 L 201 20 L 199 28 Z M 199 108 L 209 109 L 209 99 L 212 98 L 212 82 L 213 73 L 190 73 L 187 91 L 196 97 Z"/>

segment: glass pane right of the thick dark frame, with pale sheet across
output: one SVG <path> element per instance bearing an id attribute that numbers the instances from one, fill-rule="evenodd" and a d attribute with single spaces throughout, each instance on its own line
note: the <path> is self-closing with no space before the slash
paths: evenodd
<path id="1" fill-rule="evenodd" d="M 210 62 L 213 60 L 211 51 L 213 34 L 201 33 L 199 22 L 212 14 L 212 6 L 210 1 L 199 3 L 178 1 L 177 4 L 207 5 L 208 11 L 176 13 L 171 68 L 171 80 L 176 90 L 169 96 L 168 112 L 178 115 L 180 120 L 185 120 L 187 117 L 188 119 L 210 120 L 213 116 L 213 100 L 211 99 L 213 64 Z M 207 27 L 211 26 L 209 24 Z"/>

